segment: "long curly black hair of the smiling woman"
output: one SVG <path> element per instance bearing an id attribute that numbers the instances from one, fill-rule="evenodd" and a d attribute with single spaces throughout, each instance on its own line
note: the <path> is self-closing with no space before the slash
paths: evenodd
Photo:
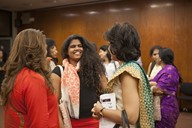
<path id="1" fill-rule="evenodd" d="M 79 40 L 83 46 L 83 54 L 80 58 L 79 76 L 81 83 L 86 86 L 99 87 L 101 85 L 100 77 L 105 74 L 105 69 L 101 63 L 100 57 L 92 44 L 80 35 L 71 35 L 63 43 L 61 48 L 62 58 L 69 58 L 68 48 L 73 40 Z"/>

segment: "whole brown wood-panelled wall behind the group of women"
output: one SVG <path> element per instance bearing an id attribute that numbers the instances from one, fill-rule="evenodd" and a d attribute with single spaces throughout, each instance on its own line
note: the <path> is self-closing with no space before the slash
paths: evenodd
<path id="1" fill-rule="evenodd" d="M 153 45 L 170 47 L 175 52 L 175 65 L 184 81 L 192 82 L 192 2 L 182 0 L 122 0 L 118 2 L 32 10 L 35 21 L 20 30 L 33 27 L 43 30 L 47 37 L 61 44 L 70 34 L 80 34 L 100 47 L 107 42 L 103 33 L 115 22 L 131 22 L 141 37 L 143 67 L 151 61 L 149 50 Z M 91 13 L 91 14 L 90 14 Z M 61 61 L 61 56 L 59 55 Z"/>

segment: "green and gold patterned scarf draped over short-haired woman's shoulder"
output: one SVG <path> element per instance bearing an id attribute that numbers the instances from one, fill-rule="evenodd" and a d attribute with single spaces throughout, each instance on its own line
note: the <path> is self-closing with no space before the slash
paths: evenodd
<path id="1" fill-rule="evenodd" d="M 123 72 L 128 72 L 132 77 L 139 79 L 140 117 L 138 127 L 154 128 L 153 98 L 149 81 L 142 67 L 140 67 L 135 61 L 126 62 L 116 70 L 112 78 L 108 81 L 106 92 L 113 91 L 115 81 Z"/>

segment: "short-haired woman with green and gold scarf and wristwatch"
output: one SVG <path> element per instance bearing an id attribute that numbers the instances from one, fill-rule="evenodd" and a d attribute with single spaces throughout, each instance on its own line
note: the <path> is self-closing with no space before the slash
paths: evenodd
<path id="1" fill-rule="evenodd" d="M 154 128 L 153 100 L 150 85 L 143 69 L 135 62 L 141 55 L 139 35 L 129 23 L 115 24 L 105 33 L 110 43 L 112 59 L 120 67 L 107 84 L 107 92 L 116 94 L 116 110 L 106 109 L 97 102 L 93 117 L 122 123 L 121 111 L 126 110 L 131 128 Z"/>

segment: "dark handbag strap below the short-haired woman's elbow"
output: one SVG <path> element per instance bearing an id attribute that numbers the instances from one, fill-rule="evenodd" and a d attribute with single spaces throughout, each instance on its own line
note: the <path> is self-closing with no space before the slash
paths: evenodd
<path id="1" fill-rule="evenodd" d="M 127 113 L 125 110 L 122 110 L 121 117 L 122 117 L 122 127 L 123 128 L 130 128 L 129 120 L 128 120 Z M 119 128 L 119 127 L 120 127 L 120 124 L 116 124 L 113 128 Z"/>

